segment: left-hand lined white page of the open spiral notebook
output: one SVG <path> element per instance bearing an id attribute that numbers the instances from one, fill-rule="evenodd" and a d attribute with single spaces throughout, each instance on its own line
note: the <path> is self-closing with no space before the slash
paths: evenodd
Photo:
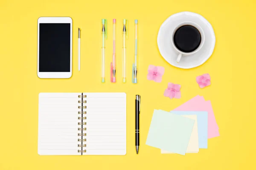
<path id="1" fill-rule="evenodd" d="M 81 155 L 78 153 L 78 95 L 40 93 L 38 106 L 38 154 Z M 81 125 L 80 125 L 81 126 Z"/>

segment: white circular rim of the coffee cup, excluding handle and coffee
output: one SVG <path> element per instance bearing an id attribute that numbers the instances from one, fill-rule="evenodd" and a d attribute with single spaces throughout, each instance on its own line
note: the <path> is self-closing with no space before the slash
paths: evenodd
<path id="1" fill-rule="evenodd" d="M 192 24 L 189 24 L 189 23 L 192 23 Z M 175 46 L 175 43 L 174 43 L 174 40 L 173 40 L 173 37 L 174 37 L 174 34 L 175 32 L 177 31 L 178 28 L 180 28 L 181 26 L 186 26 L 186 25 L 190 25 L 190 26 L 194 26 L 195 28 L 198 29 L 198 31 L 200 32 L 201 34 L 201 42 L 200 42 L 200 45 L 198 46 L 197 49 L 195 49 L 194 51 L 192 52 L 183 52 L 183 51 L 180 51 L 176 46 Z M 183 21 L 179 24 L 177 24 L 177 26 L 175 26 L 175 28 L 173 29 L 172 31 L 172 46 L 175 48 L 176 51 L 178 51 L 179 53 L 181 54 L 184 54 L 184 55 L 190 55 L 190 54 L 195 54 L 196 52 L 198 52 L 204 45 L 204 40 L 205 40 L 205 36 L 204 36 L 204 30 L 201 28 L 201 26 L 199 26 L 197 23 L 194 23 L 192 21 Z"/>

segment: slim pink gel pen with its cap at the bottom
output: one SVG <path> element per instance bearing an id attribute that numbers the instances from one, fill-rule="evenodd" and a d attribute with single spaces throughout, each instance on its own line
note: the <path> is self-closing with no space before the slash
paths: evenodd
<path id="1" fill-rule="evenodd" d="M 116 82 L 116 19 L 113 19 L 113 61 L 110 65 L 110 81 Z"/>

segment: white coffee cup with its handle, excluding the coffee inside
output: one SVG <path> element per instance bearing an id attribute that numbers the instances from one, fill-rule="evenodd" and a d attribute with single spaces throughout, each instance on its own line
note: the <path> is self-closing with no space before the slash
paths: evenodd
<path id="1" fill-rule="evenodd" d="M 199 31 L 200 34 L 201 34 L 201 42 L 200 42 L 200 45 L 198 46 L 198 48 L 196 48 L 194 51 L 188 52 L 188 53 L 187 53 L 187 52 L 180 51 L 180 50 L 175 46 L 175 43 L 174 43 L 174 34 L 175 34 L 175 32 L 177 31 L 177 29 L 180 28 L 181 26 L 186 26 L 186 25 L 194 26 L 195 28 L 198 29 L 198 31 Z M 182 23 L 178 24 L 178 25 L 174 28 L 174 30 L 173 30 L 173 32 L 172 32 L 172 45 L 173 45 L 173 47 L 175 48 L 175 50 L 179 53 L 176 62 L 180 62 L 180 59 L 181 59 L 182 56 L 189 56 L 189 55 L 191 55 L 191 54 L 195 54 L 196 52 L 198 52 L 198 51 L 202 48 L 202 46 L 204 45 L 204 30 L 203 30 L 200 26 L 198 26 L 198 24 L 193 23 L 193 22 L 191 22 L 191 21 L 182 22 Z"/>

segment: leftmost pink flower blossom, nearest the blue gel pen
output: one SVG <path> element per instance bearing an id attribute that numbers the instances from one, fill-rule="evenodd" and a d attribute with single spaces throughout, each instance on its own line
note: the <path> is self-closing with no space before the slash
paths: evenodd
<path id="1" fill-rule="evenodd" d="M 154 80 L 155 82 L 161 82 L 163 73 L 164 73 L 163 67 L 149 65 L 147 78 L 148 78 L 148 80 Z"/>

